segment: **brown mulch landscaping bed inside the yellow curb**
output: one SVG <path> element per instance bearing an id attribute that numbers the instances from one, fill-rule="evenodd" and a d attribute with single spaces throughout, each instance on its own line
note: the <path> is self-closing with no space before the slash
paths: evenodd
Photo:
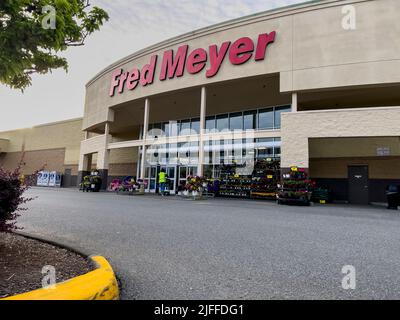
<path id="1" fill-rule="evenodd" d="M 0 299 L 42 288 L 44 266 L 53 266 L 57 283 L 84 275 L 95 267 L 69 250 L 0 232 Z"/>

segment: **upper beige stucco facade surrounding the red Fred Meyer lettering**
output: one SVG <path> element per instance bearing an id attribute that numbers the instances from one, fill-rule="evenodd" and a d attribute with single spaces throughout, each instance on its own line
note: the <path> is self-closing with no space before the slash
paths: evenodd
<path id="1" fill-rule="evenodd" d="M 342 7 L 356 8 L 357 28 L 342 28 Z M 400 19 L 398 0 L 325 0 L 288 9 L 260 13 L 177 37 L 135 53 L 100 72 L 87 85 L 84 128 L 112 121 L 109 107 L 172 90 L 224 82 L 271 73 L 280 74 L 280 91 L 315 90 L 400 82 Z M 233 66 L 225 59 L 220 72 L 207 79 L 185 72 L 182 78 L 158 80 L 162 54 L 188 44 L 189 50 L 235 41 L 248 36 L 254 41 L 261 33 L 277 32 L 265 61 L 250 60 Z M 129 71 L 159 55 L 155 83 L 109 97 L 112 72 Z"/>

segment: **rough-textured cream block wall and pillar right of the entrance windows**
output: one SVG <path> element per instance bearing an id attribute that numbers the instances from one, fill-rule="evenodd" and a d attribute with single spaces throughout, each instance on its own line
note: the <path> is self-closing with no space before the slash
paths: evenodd
<path id="1" fill-rule="evenodd" d="M 309 167 L 309 138 L 400 137 L 399 123 L 400 107 L 285 113 L 282 167 Z"/>

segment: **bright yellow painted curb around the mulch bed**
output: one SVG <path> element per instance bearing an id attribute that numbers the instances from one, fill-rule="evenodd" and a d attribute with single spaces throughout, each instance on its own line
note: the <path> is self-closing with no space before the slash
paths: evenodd
<path id="1" fill-rule="evenodd" d="M 39 289 L 2 300 L 118 300 L 118 283 L 112 267 L 104 257 L 91 259 L 97 266 L 92 272 L 59 283 L 53 289 Z"/>

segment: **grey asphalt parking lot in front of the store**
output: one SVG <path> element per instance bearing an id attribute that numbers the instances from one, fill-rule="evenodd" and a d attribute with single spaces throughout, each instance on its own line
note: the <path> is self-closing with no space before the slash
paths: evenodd
<path id="1" fill-rule="evenodd" d="M 123 299 L 399 299 L 400 211 L 34 188 L 25 232 L 109 259 Z M 342 268 L 356 269 L 356 289 Z"/>

